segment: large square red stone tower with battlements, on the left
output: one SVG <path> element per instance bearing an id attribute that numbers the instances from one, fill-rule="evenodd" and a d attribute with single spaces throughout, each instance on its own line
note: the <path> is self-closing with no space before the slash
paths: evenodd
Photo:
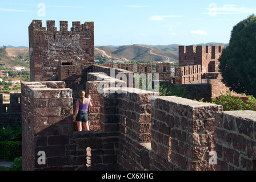
<path id="1" fill-rule="evenodd" d="M 57 81 L 59 65 L 94 64 L 94 22 L 61 21 L 57 31 L 54 20 L 33 20 L 29 26 L 31 81 Z M 47 29 L 46 29 L 47 28 Z"/>

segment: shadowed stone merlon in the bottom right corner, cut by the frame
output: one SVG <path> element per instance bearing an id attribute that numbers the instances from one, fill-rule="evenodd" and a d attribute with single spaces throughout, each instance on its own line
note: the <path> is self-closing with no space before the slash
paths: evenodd
<path id="1" fill-rule="evenodd" d="M 256 170 L 255 118 L 255 111 L 225 111 L 216 114 L 217 170 Z"/>

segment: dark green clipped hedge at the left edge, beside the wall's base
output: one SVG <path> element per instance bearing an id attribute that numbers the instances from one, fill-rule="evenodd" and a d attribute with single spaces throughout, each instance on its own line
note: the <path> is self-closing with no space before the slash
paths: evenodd
<path id="1" fill-rule="evenodd" d="M 0 159 L 14 160 L 22 156 L 21 141 L 0 141 Z"/>

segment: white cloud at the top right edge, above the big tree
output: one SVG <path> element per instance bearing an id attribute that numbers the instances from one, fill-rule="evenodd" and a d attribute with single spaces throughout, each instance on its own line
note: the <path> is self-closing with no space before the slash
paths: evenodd
<path id="1" fill-rule="evenodd" d="M 218 7 L 215 3 L 210 3 L 209 7 L 206 8 L 209 12 L 203 13 L 210 16 L 217 16 L 221 14 L 252 14 L 256 13 L 256 7 L 238 7 L 237 5 L 223 5 Z"/>

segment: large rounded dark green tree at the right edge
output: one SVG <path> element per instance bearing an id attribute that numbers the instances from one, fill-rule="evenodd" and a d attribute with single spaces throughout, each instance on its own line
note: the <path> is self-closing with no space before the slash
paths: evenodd
<path id="1" fill-rule="evenodd" d="M 256 16 L 233 27 L 230 43 L 219 58 L 222 81 L 234 92 L 256 97 Z"/>

